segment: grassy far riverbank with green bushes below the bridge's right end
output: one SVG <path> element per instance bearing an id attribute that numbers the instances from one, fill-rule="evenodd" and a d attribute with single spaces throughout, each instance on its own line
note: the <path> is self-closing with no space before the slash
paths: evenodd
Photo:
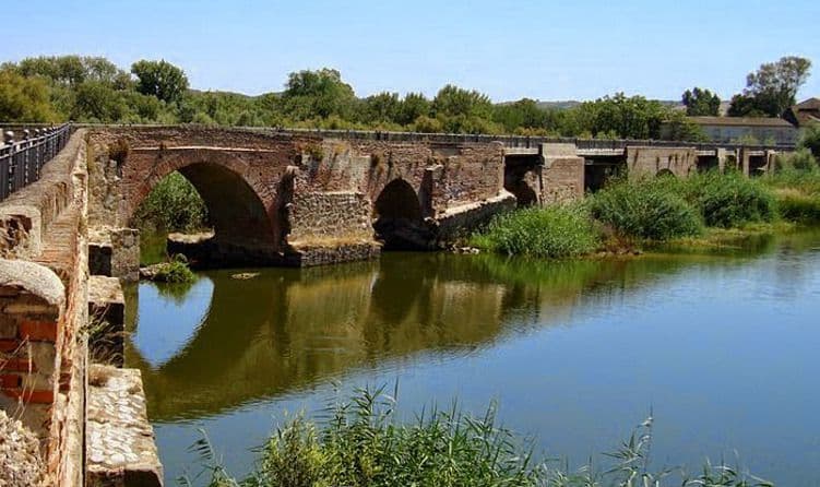
<path id="1" fill-rule="evenodd" d="M 784 161 L 762 178 L 737 171 L 619 178 L 582 202 L 498 216 L 470 243 L 506 254 L 567 258 L 669 245 L 738 245 L 820 224 L 817 164 L 789 164 Z"/>

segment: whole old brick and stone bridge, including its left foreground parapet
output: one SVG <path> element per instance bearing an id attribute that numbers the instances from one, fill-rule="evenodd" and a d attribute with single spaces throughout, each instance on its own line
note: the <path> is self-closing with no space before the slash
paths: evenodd
<path id="1" fill-rule="evenodd" d="M 61 486 L 162 482 L 139 372 L 93 365 L 88 344 L 121 347 L 132 219 L 173 171 L 209 206 L 198 258 L 317 265 L 439 248 L 516 203 L 582 198 L 609 171 L 753 174 L 782 150 L 203 127 L 15 128 L 5 142 L 0 409 L 36 436 L 45 484 Z"/>

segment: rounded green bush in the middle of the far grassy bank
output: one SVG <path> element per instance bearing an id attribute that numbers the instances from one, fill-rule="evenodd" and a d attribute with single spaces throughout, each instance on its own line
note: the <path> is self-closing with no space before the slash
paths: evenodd
<path id="1" fill-rule="evenodd" d="M 677 193 L 672 177 L 617 180 L 591 198 L 592 215 L 621 236 L 668 240 L 698 235 L 700 215 Z"/>

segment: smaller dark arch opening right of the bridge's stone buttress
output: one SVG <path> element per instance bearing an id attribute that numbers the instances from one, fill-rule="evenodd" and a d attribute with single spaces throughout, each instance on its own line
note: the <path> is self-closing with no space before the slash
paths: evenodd
<path id="1" fill-rule="evenodd" d="M 435 238 L 424 225 L 416 191 L 403 179 L 390 182 L 376 199 L 373 230 L 384 250 L 427 250 Z"/>

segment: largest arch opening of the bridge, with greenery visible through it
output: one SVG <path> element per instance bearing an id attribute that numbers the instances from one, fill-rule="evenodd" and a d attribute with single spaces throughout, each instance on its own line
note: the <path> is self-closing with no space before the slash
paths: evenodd
<path id="1" fill-rule="evenodd" d="M 169 180 L 171 185 L 167 183 Z M 157 190 L 171 191 L 163 194 L 159 201 L 166 202 L 166 207 L 161 209 L 163 219 L 173 223 L 162 228 L 158 235 L 171 231 L 195 234 L 193 237 L 169 238 L 168 254 L 182 253 L 195 265 L 209 268 L 262 264 L 275 256 L 273 218 L 253 188 L 234 170 L 218 164 L 194 163 L 163 178 L 138 203 L 135 217 L 131 218 L 132 224 L 143 231 L 152 225 L 138 216 L 144 213 L 146 203 L 156 203 Z M 197 204 L 203 206 L 204 218 L 198 219 L 198 212 L 190 207 Z M 154 246 L 157 247 L 157 242 Z M 156 257 L 156 249 L 141 248 L 141 253 Z"/>

